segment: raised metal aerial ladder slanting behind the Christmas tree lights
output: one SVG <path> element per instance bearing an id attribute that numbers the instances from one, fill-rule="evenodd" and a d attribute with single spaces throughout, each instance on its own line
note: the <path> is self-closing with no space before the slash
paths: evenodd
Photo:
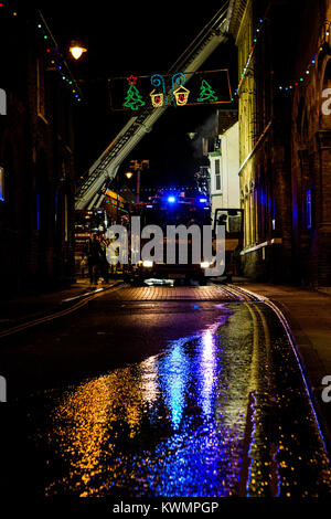
<path id="1" fill-rule="evenodd" d="M 216 12 L 197 36 L 190 43 L 169 74 L 177 72 L 192 73 L 200 70 L 205 60 L 214 52 L 220 43 L 226 40 L 226 12 L 228 1 Z M 86 177 L 76 190 L 76 210 L 98 208 L 106 189 L 117 174 L 119 166 L 138 145 L 142 137 L 152 130 L 154 123 L 164 114 L 167 105 L 153 108 L 146 106 L 139 115 L 134 116 L 124 126 L 110 145 L 89 168 Z"/>

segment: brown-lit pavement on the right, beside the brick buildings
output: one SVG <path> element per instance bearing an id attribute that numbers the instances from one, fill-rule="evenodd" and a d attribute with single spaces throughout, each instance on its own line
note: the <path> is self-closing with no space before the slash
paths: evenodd
<path id="1" fill-rule="evenodd" d="M 287 318 L 331 445 L 331 402 L 321 399 L 325 389 L 322 379 L 331 377 L 331 294 L 249 282 L 236 284 L 270 299 Z"/>

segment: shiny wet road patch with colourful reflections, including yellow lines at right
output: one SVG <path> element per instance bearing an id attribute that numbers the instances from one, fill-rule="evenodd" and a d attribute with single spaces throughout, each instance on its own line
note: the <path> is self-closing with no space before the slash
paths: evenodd
<path id="1" fill-rule="evenodd" d="M 46 432 L 45 495 L 329 495 L 300 371 L 268 311 L 226 305 L 160 354 L 51 395 L 34 432 L 39 449 Z"/>

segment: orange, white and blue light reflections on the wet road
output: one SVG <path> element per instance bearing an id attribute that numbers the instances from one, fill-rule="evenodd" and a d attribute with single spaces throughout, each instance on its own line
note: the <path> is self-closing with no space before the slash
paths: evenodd
<path id="1" fill-rule="evenodd" d="M 46 495 L 232 495 L 246 401 L 233 416 L 222 404 L 217 330 L 228 315 L 140 364 L 66 391 L 49 432 L 63 474 L 50 481 Z"/>

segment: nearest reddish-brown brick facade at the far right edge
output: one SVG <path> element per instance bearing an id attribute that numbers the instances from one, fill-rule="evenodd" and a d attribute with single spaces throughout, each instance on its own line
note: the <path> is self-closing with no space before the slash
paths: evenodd
<path id="1" fill-rule="evenodd" d="M 331 286 L 331 2 L 303 1 L 291 99 L 293 257 L 300 282 Z M 305 77 L 306 76 L 306 77 Z M 300 81 L 305 77 L 305 81 Z M 292 86 L 292 85 L 290 85 Z M 328 100 L 329 99 L 329 100 Z"/>

